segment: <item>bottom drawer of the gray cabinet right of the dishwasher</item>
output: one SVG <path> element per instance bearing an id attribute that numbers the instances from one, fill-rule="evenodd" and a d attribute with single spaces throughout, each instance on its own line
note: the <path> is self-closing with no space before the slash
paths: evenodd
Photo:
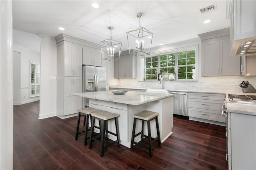
<path id="1" fill-rule="evenodd" d="M 188 108 L 188 116 L 210 121 L 226 122 L 225 117 L 221 115 L 221 111 L 211 111 L 206 109 Z"/>

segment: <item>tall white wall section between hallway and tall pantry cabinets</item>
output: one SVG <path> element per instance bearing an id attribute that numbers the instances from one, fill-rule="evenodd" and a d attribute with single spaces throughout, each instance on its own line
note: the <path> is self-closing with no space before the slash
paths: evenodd
<path id="1" fill-rule="evenodd" d="M 54 38 L 41 38 L 41 93 L 39 119 L 56 116 L 57 46 Z"/>

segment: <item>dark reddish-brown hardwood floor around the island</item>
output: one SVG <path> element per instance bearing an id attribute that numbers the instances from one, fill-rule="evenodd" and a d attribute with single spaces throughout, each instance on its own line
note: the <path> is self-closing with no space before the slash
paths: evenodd
<path id="1" fill-rule="evenodd" d="M 145 148 L 108 147 L 74 140 L 77 117 L 38 119 L 39 102 L 14 105 L 14 170 L 228 169 L 225 127 L 174 117 L 173 134 L 153 156 Z M 82 120 L 81 120 L 82 125 Z M 144 140 L 145 141 L 145 140 Z"/>

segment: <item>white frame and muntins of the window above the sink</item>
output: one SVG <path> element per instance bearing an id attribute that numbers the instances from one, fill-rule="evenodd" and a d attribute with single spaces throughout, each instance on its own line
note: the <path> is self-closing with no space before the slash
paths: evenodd
<path id="1" fill-rule="evenodd" d="M 184 67 L 189 67 L 189 66 L 192 66 L 194 65 L 195 66 L 195 79 L 178 79 L 178 53 L 180 52 L 185 52 L 185 51 L 192 51 L 194 50 L 195 51 L 195 64 L 187 64 L 187 65 L 180 65 L 180 66 L 184 66 Z M 166 50 L 166 51 L 158 51 L 158 52 L 155 52 L 155 53 L 151 53 L 150 55 L 147 55 L 147 56 L 144 56 L 144 57 L 141 57 L 140 58 L 140 65 L 142 67 L 142 70 L 143 70 L 143 73 L 141 72 L 140 73 L 140 77 L 144 80 L 144 81 L 158 81 L 158 78 L 157 79 L 145 79 L 145 75 L 146 75 L 146 68 L 145 68 L 145 61 L 143 61 L 145 58 L 147 57 L 155 57 L 157 56 L 158 57 L 158 67 L 157 67 L 157 74 L 160 73 L 160 56 L 161 55 L 166 55 L 166 54 L 172 54 L 172 53 L 175 53 L 175 65 L 174 66 L 170 66 L 170 67 L 174 67 L 174 72 L 175 72 L 175 81 L 198 81 L 198 71 L 199 71 L 199 68 L 198 68 L 198 45 L 191 45 L 191 46 L 188 46 L 188 47 L 182 47 L 182 48 L 177 48 L 177 49 L 172 49 L 172 50 Z M 186 57 L 187 59 L 188 57 Z M 168 68 L 167 66 L 165 68 Z M 188 72 L 186 71 L 186 74 Z M 190 73 L 190 72 L 189 72 Z M 142 80 L 140 79 L 140 80 Z"/>

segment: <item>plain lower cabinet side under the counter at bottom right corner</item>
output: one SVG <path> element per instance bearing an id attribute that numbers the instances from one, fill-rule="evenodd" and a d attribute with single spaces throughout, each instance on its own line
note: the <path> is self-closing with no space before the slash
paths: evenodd
<path id="1" fill-rule="evenodd" d="M 256 169 L 256 115 L 228 113 L 228 169 Z"/>

